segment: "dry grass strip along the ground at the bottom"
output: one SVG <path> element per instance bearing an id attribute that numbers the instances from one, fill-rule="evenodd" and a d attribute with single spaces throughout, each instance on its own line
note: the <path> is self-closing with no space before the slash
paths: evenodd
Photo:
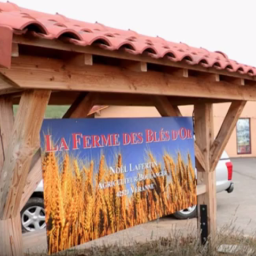
<path id="1" fill-rule="evenodd" d="M 211 244 L 211 245 L 210 245 Z M 238 245 L 235 253 L 221 253 L 215 250 L 220 245 Z M 213 249 L 214 248 L 214 249 Z M 26 256 L 46 256 L 47 253 L 25 254 Z M 202 246 L 196 231 L 182 235 L 181 231 L 173 231 L 168 237 L 154 241 L 131 242 L 129 245 L 119 243 L 91 246 L 88 249 L 70 249 L 54 255 L 58 256 L 253 256 L 256 255 L 255 236 L 245 236 L 243 232 L 232 229 L 220 230 L 211 243 Z"/>

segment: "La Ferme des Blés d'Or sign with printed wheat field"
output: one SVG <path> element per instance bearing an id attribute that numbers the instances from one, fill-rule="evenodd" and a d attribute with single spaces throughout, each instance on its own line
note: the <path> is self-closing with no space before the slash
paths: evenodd
<path id="1" fill-rule="evenodd" d="M 196 204 L 188 117 L 45 119 L 49 254 Z"/>

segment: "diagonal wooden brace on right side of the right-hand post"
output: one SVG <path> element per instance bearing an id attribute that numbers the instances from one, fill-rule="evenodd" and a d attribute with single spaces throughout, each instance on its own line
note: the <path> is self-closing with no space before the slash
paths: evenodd
<path id="1" fill-rule="evenodd" d="M 218 164 L 223 150 L 235 129 L 236 123 L 242 114 L 246 101 L 232 102 L 228 113 L 220 127 L 219 133 L 211 146 L 210 171 L 212 172 Z"/>

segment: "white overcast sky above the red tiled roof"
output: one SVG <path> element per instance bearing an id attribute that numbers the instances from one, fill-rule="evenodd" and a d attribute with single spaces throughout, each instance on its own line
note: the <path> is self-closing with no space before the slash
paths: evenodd
<path id="1" fill-rule="evenodd" d="M 2 0 L 3 1 L 3 0 Z M 21 7 L 222 51 L 256 67 L 255 0 L 12 0 Z"/>

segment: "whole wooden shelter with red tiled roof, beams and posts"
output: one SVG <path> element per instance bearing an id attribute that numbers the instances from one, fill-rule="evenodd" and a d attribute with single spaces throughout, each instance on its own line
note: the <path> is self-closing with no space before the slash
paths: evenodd
<path id="1" fill-rule="evenodd" d="M 214 236 L 215 166 L 246 101 L 256 100 L 255 76 L 221 52 L 0 3 L 1 255 L 23 254 L 20 210 L 42 179 L 47 105 L 71 105 L 63 118 L 86 117 L 94 105 L 156 106 L 162 116 L 194 105 L 198 204 Z M 231 105 L 214 138 L 218 102 Z"/>

